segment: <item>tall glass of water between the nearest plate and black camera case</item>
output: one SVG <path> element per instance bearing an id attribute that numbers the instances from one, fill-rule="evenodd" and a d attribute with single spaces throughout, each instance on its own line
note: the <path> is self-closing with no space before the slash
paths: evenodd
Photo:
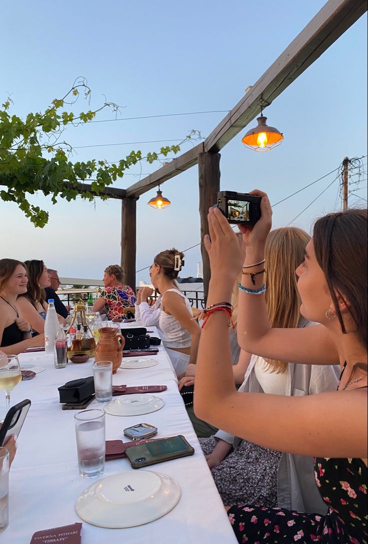
<path id="1" fill-rule="evenodd" d="M 97 478 L 105 470 L 105 412 L 84 410 L 74 416 L 79 475 Z"/>

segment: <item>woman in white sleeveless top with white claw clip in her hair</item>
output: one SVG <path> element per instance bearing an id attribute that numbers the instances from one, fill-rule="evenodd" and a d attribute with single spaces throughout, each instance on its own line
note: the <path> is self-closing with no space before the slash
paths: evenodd
<path id="1" fill-rule="evenodd" d="M 182 376 L 189 363 L 195 363 L 201 328 L 195 322 L 191 305 L 178 288 L 175 279 L 182 269 L 184 254 L 176 249 L 161 251 L 152 267 L 152 284 L 161 293 L 159 329 L 177 376 Z"/>

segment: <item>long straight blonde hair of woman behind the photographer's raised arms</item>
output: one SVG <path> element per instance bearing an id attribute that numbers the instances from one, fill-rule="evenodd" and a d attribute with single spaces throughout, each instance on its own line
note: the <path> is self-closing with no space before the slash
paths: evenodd
<path id="1" fill-rule="evenodd" d="M 309 234 L 297 227 L 276 228 L 266 240 L 266 304 L 272 328 L 295 329 L 301 314 L 296 268 L 304 260 Z M 272 372 L 285 372 L 288 363 L 266 359 Z"/>

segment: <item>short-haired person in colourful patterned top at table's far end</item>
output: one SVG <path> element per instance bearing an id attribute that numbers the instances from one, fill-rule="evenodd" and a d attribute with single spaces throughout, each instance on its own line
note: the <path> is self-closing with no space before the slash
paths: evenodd
<path id="1" fill-rule="evenodd" d="M 95 312 L 103 313 L 105 310 L 110 320 L 121 319 L 123 308 L 132 307 L 135 304 L 135 296 L 132 287 L 123 285 L 123 269 L 118 264 L 110 264 L 104 270 L 101 295 L 93 304 Z"/>

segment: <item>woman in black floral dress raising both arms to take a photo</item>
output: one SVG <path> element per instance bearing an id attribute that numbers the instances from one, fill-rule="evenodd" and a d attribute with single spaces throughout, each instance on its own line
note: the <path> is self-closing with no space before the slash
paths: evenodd
<path id="1" fill-rule="evenodd" d="M 208 215 L 205 246 L 211 263 L 209 314 L 197 357 L 198 417 L 261 446 L 315 457 L 315 479 L 326 516 L 280 508 L 232 506 L 239 542 L 363 543 L 367 540 L 367 212 L 349 209 L 316 221 L 297 268 L 301 314 L 319 323 L 272 329 L 265 304 L 264 250 L 271 205 L 261 191 L 261 219 L 240 227 L 244 242 L 220 210 Z M 245 251 L 246 250 L 246 251 Z M 228 316 L 239 270 L 238 341 L 265 358 L 341 367 L 338 391 L 307 397 L 239 393 L 229 360 Z M 213 308 L 209 308 L 210 310 Z M 216 343 L 222 336 L 223 343 Z M 243 413 L 244 417 L 239 417 Z"/>

